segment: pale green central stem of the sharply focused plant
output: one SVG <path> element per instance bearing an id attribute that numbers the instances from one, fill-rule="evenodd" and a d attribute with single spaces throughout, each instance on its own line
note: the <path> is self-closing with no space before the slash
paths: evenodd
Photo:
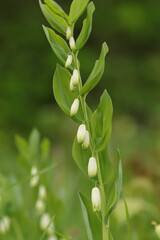
<path id="1" fill-rule="evenodd" d="M 78 64 L 78 51 L 74 53 L 74 58 L 75 58 L 75 67 L 78 70 L 79 76 L 80 76 L 80 69 L 79 69 L 79 64 Z M 81 76 L 80 76 L 78 88 L 79 88 L 79 91 L 82 88 Z M 86 97 L 85 96 L 79 96 L 79 97 L 80 97 L 80 101 L 82 104 L 84 122 L 86 124 L 86 127 L 87 127 L 87 129 L 89 131 L 89 135 L 90 135 L 90 149 L 91 149 L 93 157 L 95 157 L 96 161 L 97 161 L 97 176 L 98 176 L 98 181 L 99 181 L 99 186 L 100 186 L 101 204 L 102 204 L 102 208 L 101 208 L 101 211 L 102 211 L 102 237 L 103 237 L 102 240 L 109 240 L 108 228 L 106 229 L 106 225 L 105 225 L 106 197 L 105 197 L 104 185 L 103 185 L 103 180 L 102 180 L 102 175 L 101 175 L 99 156 L 98 156 L 98 152 L 94 148 L 93 140 L 91 138 L 91 129 L 90 129 L 90 124 L 89 124 L 88 114 L 87 114 L 87 109 L 86 109 Z"/>

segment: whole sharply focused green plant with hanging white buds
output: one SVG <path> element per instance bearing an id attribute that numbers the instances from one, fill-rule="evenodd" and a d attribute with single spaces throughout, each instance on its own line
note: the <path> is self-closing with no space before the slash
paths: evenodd
<path id="1" fill-rule="evenodd" d="M 92 29 L 95 11 L 89 0 L 73 0 L 69 15 L 53 0 L 40 1 L 41 10 L 51 25 L 43 26 L 46 37 L 61 65 L 57 64 L 53 77 L 54 97 L 61 109 L 79 124 L 72 153 L 78 167 L 93 182 L 89 196 L 79 192 L 84 222 L 89 240 L 113 239 L 109 219 L 118 203 L 122 186 L 122 167 L 119 151 L 113 166 L 108 156 L 113 106 L 104 90 L 97 109 L 92 112 L 86 98 L 100 81 L 108 46 L 104 42 L 88 79 L 82 82 L 79 51 L 86 44 Z M 77 39 L 75 23 L 86 10 L 86 18 Z"/>

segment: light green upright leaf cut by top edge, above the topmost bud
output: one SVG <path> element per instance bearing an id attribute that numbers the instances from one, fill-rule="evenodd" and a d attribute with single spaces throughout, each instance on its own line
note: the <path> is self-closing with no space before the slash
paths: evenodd
<path id="1" fill-rule="evenodd" d="M 69 21 L 75 23 L 82 15 L 88 5 L 89 0 L 73 0 L 69 13 Z"/>

